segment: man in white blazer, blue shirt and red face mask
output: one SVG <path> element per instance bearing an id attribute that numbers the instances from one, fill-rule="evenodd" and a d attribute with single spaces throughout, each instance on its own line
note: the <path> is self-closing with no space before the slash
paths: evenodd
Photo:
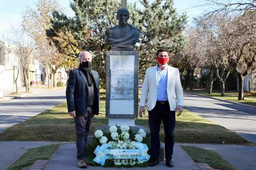
<path id="1" fill-rule="evenodd" d="M 168 51 L 157 51 L 158 64 L 146 70 L 141 99 L 139 103 L 139 116 L 145 115 L 145 103 L 149 112 L 150 143 L 152 149 L 152 162 L 150 166 L 157 165 L 160 150 L 159 131 L 163 122 L 165 131 L 165 158 L 166 165 L 173 167 L 172 162 L 174 146 L 175 111 L 181 115 L 183 108 L 183 91 L 179 70 L 169 66 Z"/>

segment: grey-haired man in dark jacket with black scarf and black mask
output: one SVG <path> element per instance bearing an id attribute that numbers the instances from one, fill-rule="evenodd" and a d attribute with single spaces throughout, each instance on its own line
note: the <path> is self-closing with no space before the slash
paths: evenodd
<path id="1" fill-rule="evenodd" d="M 69 72 L 66 89 L 68 112 L 75 120 L 79 168 L 86 168 L 89 164 L 87 137 L 94 114 L 99 114 L 99 74 L 92 70 L 91 60 L 90 52 L 83 51 L 79 54 L 79 68 Z"/>

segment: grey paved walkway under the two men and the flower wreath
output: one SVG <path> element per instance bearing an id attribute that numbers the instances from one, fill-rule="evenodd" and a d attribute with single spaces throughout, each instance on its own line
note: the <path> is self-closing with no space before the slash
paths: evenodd
<path id="1" fill-rule="evenodd" d="M 173 162 L 174 167 L 172 170 L 199 170 L 196 166 L 195 162 L 184 152 L 184 150 L 178 145 L 174 146 L 174 154 L 173 154 Z M 102 169 L 102 166 L 93 167 L 88 166 L 88 169 Z M 61 148 L 55 153 L 53 158 L 46 165 L 44 170 L 70 170 L 70 169 L 81 169 L 77 166 L 77 158 L 76 158 L 76 146 L 75 143 L 63 144 Z M 104 168 L 104 169 L 127 169 L 127 168 Z M 145 168 L 129 168 L 129 169 L 170 169 L 165 165 L 165 162 L 160 162 L 155 167 L 145 167 Z"/>

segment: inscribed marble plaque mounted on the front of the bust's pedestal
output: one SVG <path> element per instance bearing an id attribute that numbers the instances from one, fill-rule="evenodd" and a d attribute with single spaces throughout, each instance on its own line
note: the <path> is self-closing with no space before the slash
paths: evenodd
<path id="1" fill-rule="evenodd" d="M 110 99 L 133 100 L 134 71 L 111 70 Z"/>

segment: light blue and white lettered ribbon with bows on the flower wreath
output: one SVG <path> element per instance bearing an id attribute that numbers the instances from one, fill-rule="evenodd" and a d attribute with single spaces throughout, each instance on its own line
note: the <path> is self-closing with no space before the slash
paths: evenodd
<path id="1" fill-rule="evenodd" d="M 145 143 L 136 142 L 135 147 L 137 149 L 107 149 L 110 144 L 97 146 L 94 150 L 96 157 L 93 159 L 94 162 L 105 164 L 106 159 L 138 159 L 139 162 L 143 163 L 149 160 L 150 156 L 147 154 L 149 148 Z"/>

